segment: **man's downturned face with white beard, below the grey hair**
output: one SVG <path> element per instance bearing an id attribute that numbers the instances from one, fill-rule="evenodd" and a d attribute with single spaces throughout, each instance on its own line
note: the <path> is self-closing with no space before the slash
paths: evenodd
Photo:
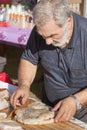
<path id="1" fill-rule="evenodd" d="M 62 47 L 70 34 L 68 23 L 65 23 L 63 27 L 59 27 L 54 20 L 38 27 L 37 31 L 45 39 L 47 45 L 53 44 L 57 47 Z"/>

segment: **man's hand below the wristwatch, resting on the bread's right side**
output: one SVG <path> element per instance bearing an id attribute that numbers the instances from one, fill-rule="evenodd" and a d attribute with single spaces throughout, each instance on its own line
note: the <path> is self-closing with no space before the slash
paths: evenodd
<path id="1" fill-rule="evenodd" d="M 69 121 L 76 113 L 76 102 L 67 97 L 56 104 L 52 111 L 56 112 L 55 122 Z"/>

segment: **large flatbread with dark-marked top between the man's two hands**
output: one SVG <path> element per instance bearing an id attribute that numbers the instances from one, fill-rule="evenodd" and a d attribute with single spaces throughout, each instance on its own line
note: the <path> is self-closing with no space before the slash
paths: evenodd
<path id="1" fill-rule="evenodd" d="M 54 112 L 41 102 L 35 102 L 15 111 L 15 119 L 22 124 L 41 125 L 54 122 Z"/>

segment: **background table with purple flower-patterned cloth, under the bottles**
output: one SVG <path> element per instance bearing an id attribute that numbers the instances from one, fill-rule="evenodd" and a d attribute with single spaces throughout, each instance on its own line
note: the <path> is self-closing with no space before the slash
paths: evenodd
<path id="1" fill-rule="evenodd" d="M 25 47 L 32 28 L 0 27 L 0 43 Z"/>

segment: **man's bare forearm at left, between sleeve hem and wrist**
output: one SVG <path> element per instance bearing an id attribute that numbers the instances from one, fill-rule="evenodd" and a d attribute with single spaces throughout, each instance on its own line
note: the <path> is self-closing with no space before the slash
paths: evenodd
<path id="1" fill-rule="evenodd" d="M 18 71 L 19 87 L 30 87 L 36 75 L 37 65 L 21 59 Z"/>

